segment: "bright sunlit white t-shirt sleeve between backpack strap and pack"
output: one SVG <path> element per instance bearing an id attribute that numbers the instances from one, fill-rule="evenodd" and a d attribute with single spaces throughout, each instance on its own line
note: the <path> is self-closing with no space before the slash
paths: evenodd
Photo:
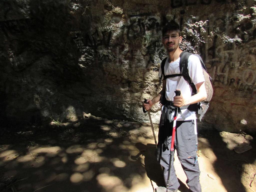
<path id="1" fill-rule="evenodd" d="M 188 74 L 194 84 L 205 81 L 201 62 L 195 55 L 190 55 L 188 57 Z"/>

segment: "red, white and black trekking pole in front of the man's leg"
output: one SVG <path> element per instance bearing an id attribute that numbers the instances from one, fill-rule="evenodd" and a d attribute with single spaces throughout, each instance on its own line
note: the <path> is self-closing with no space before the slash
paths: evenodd
<path id="1" fill-rule="evenodd" d="M 175 96 L 180 96 L 180 91 L 174 91 L 174 92 L 175 92 Z M 174 137 L 175 137 L 175 130 L 176 130 L 177 111 L 178 111 L 178 107 L 175 106 L 174 120 L 173 120 L 173 134 L 172 134 L 172 142 L 171 142 L 171 149 L 170 149 L 170 161 L 169 161 L 169 170 L 168 170 L 168 177 L 167 177 L 166 192 L 168 192 L 171 163 L 172 163 L 172 158 L 174 156 Z"/>

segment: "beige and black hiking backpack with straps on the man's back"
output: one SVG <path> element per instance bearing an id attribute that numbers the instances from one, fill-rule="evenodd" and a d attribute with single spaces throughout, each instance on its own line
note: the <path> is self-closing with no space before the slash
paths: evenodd
<path id="1" fill-rule="evenodd" d="M 196 90 L 196 86 L 194 85 L 194 83 L 191 82 L 191 78 L 188 75 L 188 57 L 190 55 L 193 55 L 193 54 L 188 51 L 183 51 L 180 54 L 179 69 L 180 69 L 181 73 L 180 74 L 172 74 L 172 75 L 164 74 L 164 66 L 165 66 L 167 57 L 164 58 L 164 60 L 161 63 L 162 75 L 160 77 L 160 80 L 162 79 L 162 77 L 164 77 L 164 80 L 166 80 L 167 78 L 170 78 L 170 77 L 183 76 L 183 78 L 189 83 L 190 87 L 192 88 L 192 94 L 191 94 L 191 96 L 192 96 L 197 93 L 197 90 Z M 201 62 L 202 71 L 203 71 L 204 78 L 205 78 L 205 89 L 206 89 L 206 93 L 207 93 L 207 98 L 204 101 L 201 101 L 201 102 L 195 103 L 195 104 L 190 104 L 188 106 L 183 106 L 182 108 L 188 109 L 189 111 L 195 111 L 197 114 L 200 115 L 199 120 L 201 121 L 202 117 L 204 116 L 207 109 L 209 108 L 209 102 L 212 98 L 212 94 L 213 94 L 213 89 L 212 89 L 212 84 L 211 84 L 212 78 L 207 73 L 207 70 L 206 70 L 206 67 L 205 67 L 205 64 L 204 64 L 202 58 L 197 54 L 194 54 L 194 55 L 197 56 Z M 163 93 L 163 95 L 161 96 L 162 97 L 161 104 L 164 104 L 163 100 L 166 100 L 165 93 Z"/>

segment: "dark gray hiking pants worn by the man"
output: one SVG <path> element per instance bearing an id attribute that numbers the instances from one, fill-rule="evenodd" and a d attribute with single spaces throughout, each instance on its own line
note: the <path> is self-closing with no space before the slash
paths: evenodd
<path id="1" fill-rule="evenodd" d="M 196 138 L 195 138 L 194 120 L 176 121 L 176 133 L 174 138 L 174 150 L 177 150 L 177 155 L 182 168 L 187 176 L 187 185 L 194 192 L 201 192 L 199 183 L 199 165 L 196 161 Z M 173 122 L 170 125 L 170 130 L 166 132 L 164 127 L 159 127 L 158 144 L 156 157 L 158 162 L 163 166 L 165 184 L 168 177 L 170 146 L 172 141 Z M 167 133 L 167 134 L 166 134 Z M 164 146 L 164 140 L 168 136 L 168 147 Z M 196 162 L 196 163 L 195 163 Z M 179 182 L 175 174 L 175 169 L 171 165 L 169 187 L 170 191 L 175 191 L 179 187 Z"/>

